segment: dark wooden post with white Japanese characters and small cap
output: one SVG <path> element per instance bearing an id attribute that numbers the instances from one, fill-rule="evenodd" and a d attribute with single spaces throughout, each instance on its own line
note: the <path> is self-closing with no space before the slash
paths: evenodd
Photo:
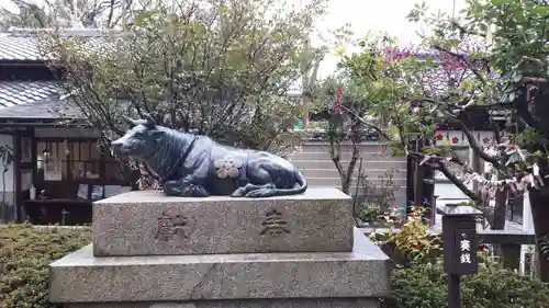
<path id="1" fill-rule="evenodd" d="M 445 271 L 448 274 L 448 308 L 461 308 L 461 276 L 477 274 L 477 216 L 471 206 L 447 204 L 437 206 L 442 216 Z"/>

